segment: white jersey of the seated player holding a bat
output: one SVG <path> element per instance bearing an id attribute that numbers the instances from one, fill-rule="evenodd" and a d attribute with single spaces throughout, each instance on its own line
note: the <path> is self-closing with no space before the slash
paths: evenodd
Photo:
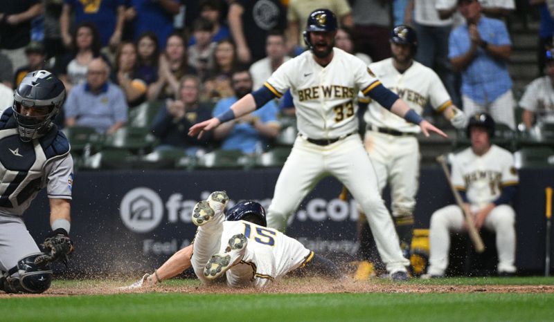
<path id="1" fill-rule="evenodd" d="M 494 144 L 481 156 L 469 147 L 456 154 L 452 162 L 452 183 L 466 191 L 470 204 L 480 208 L 497 200 L 503 187 L 518 182 L 514 156 Z"/>

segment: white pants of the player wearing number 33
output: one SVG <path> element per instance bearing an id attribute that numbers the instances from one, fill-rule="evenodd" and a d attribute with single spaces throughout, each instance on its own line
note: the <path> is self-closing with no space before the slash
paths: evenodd
<path id="1" fill-rule="evenodd" d="M 328 175 L 341 181 L 361 205 L 388 272 L 405 272 L 409 261 L 402 256 L 393 220 L 377 187 L 375 169 L 359 135 L 327 146 L 312 144 L 298 135 L 277 179 L 267 226 L 285 231 L 289 216 L 317 182 Z"/>

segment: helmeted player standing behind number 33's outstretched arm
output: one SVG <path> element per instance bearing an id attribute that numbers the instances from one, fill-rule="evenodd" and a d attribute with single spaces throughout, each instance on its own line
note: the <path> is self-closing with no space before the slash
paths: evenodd
<path id="1" fill-rule="evenodd" d="M 463 129 L 465 115 L 452 104 L 438 75 L 413 60 L 418 49 L 415 30 L 409 26 L 396 26 L 391 31 L 390 41 L 393 57 L 370 64 L 370 70 L 414 111 L 422 113 L 425 105 L 431 104 L 454 127 Z M 391 113 L 379 102 L 369 101 L 364 114 L 367 124 L 364 144 L 375 167 L 379 189 L 382 191 L 387 182 L 391 186 L 393 218 L 402 252 L 409 258 L 415 194 L 419 185 L 420 151 L 416 135 L 420 133 L 420 127 Z M 360 220 L 363 219 L 360 216 Z M 364 224 L 360 225 L 360 252 L 362 256 L 368 256 L 373 238 Z M 379 262 L 379 258 L 364 259 Z"/>

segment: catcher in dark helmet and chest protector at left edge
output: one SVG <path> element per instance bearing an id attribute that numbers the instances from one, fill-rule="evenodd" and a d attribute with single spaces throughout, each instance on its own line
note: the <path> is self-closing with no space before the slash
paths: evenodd
<path id="1" fill-rule="evenodd" d="M 52 281 L 50 263 L 66 261 L 73 159 L 53 124 L 65 100 L 64 84 L 46 70 L 28 73 L 0 116 L 0 290 L 42 293 Z M 41 252 L 21 217 L 46 187 L 52 231 Z"/>

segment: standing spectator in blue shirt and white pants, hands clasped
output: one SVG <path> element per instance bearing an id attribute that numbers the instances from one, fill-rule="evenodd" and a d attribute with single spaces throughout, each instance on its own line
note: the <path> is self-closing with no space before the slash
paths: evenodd
<path id="1" fill-rule="evenodd" d="M 508 59 L 510 35 L 503 21 L 481 14 L 477 0 L 458 1 L 466 23 L 449 37 L 449 59 L 462 73 L 462 104 L 465 115 L 490 113 L 494 120 L 515 129 L 512 79 Z"/>

